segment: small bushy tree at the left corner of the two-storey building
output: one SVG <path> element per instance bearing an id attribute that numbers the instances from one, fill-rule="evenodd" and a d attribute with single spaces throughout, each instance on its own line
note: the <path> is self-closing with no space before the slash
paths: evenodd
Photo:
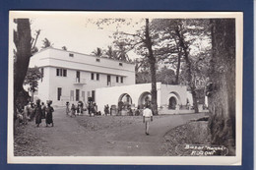
<path id="1" fill-rule="evenodd" d="M 29 68 L 27 72 L 27 76 L 24 80 L 24 85 L 29 85 L 29 91 L 32 92 L 32 100 L 33 100 L 33 92 L 36 91 L 38 87 L 38 80 L 42 77 L 39 68 Z"/>

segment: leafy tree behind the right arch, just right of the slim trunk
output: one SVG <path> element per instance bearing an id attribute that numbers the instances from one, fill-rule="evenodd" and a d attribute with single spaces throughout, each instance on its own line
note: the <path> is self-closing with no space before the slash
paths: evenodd
<path id="1" fill-rule="evenodd" d="M 163 55 L 163 59 L 167 57 L 170 63 L 177 63 L 176 84 L 180 83 L 179 73 L 183 67 L 182 77 L 183 80 L 185 78 L 186 85 L 191 90 L 195 112 L 198 112 L 196 82 L 199 79 L 198 75 L 202 76 L 202 72 L 197 67 L 202 65 L 202 58 L 207 56 L 204 54 L 207 53 L 207 48 L 211 48 L 209 45 L 209 20 L 156 19 L 153 24 L 154 28 L 160 31 L 160 40 L 163 41 L 159 47 L 160 55 L 166 53 L 167 55 Z M 208 46 L 203 46 L 203 41 Z M 196 50 L 193 51 L 193 49 Z M 202 61 L 207 63 L 207 60 Z M 182 64 L 183 62 L 184 64 Z"/>

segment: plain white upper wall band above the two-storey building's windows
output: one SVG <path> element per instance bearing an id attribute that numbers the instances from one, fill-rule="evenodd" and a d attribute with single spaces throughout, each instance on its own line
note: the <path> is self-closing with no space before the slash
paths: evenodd
<path id="1" fill-rule="evenodd" d="M 74 54 L 74 56 L 70 57 L 70 53 Z M 100 62 L 96 62 L 96 59 L 99 59 Z M 119 66 L 119 63 L 121 63 L 122 66 Z M 125 77 L 125 85 L 135 84 L 134 64 L 54 48 L 46 48 L 33 55 L 30 67 L 34 66 L 51 66 L 122 76 Z"/>

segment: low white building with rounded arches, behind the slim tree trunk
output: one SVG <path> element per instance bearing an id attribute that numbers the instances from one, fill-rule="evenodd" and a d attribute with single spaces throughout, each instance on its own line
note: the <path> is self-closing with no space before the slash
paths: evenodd
<path id="1" fill-rule="evenodd" d="M 100 112 L 104 105 L 117 105 L 119 101 L 128 102 L 135 107 L 143 108 L 147 97 L 151 97 L 151 84 L 123 85 L 96 88 L 96 103 Z M 160 110 L 173 113 L 176 105 L 186 105 L 188 98 L 187 87 L 184 85 L 162 85 L 157 83 L 158 106 Z M 107 97 L 111 96 L 111 97 Z M 191 102 L 191 101 L 190 101 Z"/>

